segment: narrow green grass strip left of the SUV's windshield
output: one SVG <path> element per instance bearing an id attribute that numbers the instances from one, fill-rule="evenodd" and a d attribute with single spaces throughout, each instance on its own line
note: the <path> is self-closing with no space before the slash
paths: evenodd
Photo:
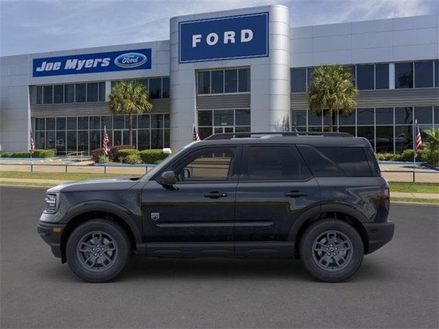
<path id="1" fill-rule="evenodd" d="M 34 180 L 92 180 L 95 178 L 115 178 L 127 176 L 129 175 L 117 173 L 27 173 L 24 171 L 0 171 L 0 178 L 24 178 Z M 135 177 L 136 175 L 133 176 Z"/>

